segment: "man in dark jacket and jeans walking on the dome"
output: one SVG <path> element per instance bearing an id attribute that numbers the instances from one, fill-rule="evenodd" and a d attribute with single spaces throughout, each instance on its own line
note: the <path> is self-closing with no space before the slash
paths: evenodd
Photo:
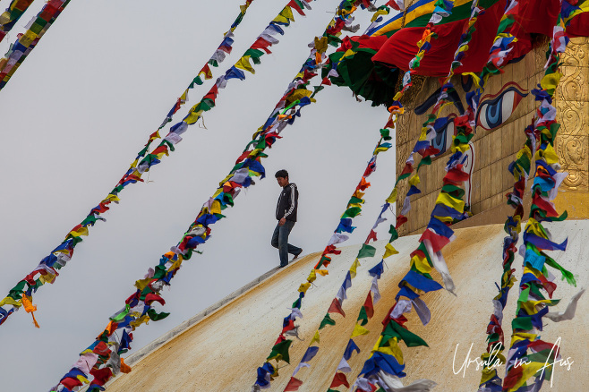
<path id="1" fill-rule="evenodd" d="M 278 249 L 280 268 L 282 268 L 288 265 L 288 253 L 294 254 L 294 259 L 296 259 L 303 252 L 301 248 L 288 243 L 288 234 L 290 234 L 296 222 L 299 192 L 296 189 L 296 184 L 288 183 L 288 172 L 286 170 L 278 170 L 275 177 L 278 185 L 282 187 L 282 192 L 280 192 L 276 206 L 278 224 L 274 229 L 274 234 L 272 234 L 272 246 Z"/>

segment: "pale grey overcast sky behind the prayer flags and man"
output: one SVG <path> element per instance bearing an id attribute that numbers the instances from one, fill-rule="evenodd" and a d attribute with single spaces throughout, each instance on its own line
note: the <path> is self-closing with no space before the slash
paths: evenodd
<path id="1" fill-rule="evenodd" d="M 38 4 L 37 4 L 38 3 Z M 31 6 L 22 27 L 44 2 Z M 215 78 L 234 64 L 287 1 L 255 0 L 235 31 L 234 52 Z M 309 54 L 338 0 L 312 3 L 307 18 L 272 47 L 256 74 L 230 81 L 217 107 L 193 125 L 149 183 L 129 186 L 121 203 L 90 229 L 55 285 L 34 296 L 40 329 L 19 311 L 0 327 L 2 390 L 48 390 L 78 354 L 106 327 L 134 291 L 133 283 L 175 245 L 235 164 L 252 133 L 263 124 Z M 382 3 L 382 2 L 380 2 Z M 9 4 L 0 2 L 3 9 Z M 73 226 L 107 196 L 161 124 L 175 99 L 218 47 L 243 0 L 223 2 L 73 0 L 55 25 L 0 91 L 1 297 L 61 243 Z M 367 13 L 357 21 L 367 24 Z M 13 42 L 0 44 L 4 53 Z M 209 90 L 191 91 L 180 120 Z M 358 103 L 335 86 L 303 108 L 263 161 L 269 174 L 235 200 L 213 226 L 202 255 L 184 263 L 163 296 L 172 314 L 133 333 L 137 350 L 226 294 L 279 263 L 270 246 L 280 191 L 273 174 L 290 173 L 300 192 L 299 221 L 291 242 L 303 252 L 321 251 L 354 192 L 379 129 L 384 107 Z M 358 230 L 362 243 L 395 181 L 395 151 L 380 154 Z M 334 293 L 335 294 L 335 293 Z M 279 320 L 273 320 L 279 323 Z M 252 375 L 254 377 L 254 375 Z"/>

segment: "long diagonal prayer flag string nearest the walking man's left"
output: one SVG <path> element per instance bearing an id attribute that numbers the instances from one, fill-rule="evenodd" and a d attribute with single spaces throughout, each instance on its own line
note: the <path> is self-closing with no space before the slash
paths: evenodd
<path id="1" fill-rule="evenodd" d="M 349 2 L 344 3 L 348 4 Z M 339 23 L 339 27 L 333 30 L 341 18 L 345 22 Z M 338 15 L 334 19 L 329 23 L 329 29 L 336 34 L 339 33 L 337 30 L 341 31 L 351 23 L 350 18 L 342 15 Z M 263 178 L 265 176 L 265 169 L 260 162 L 261 158 L 267 157 L 263 151 L 271 148 L 272 144 L 280 138 L 279 133 L 286 128 L 286 125 L 294 124 L 294 119 L 300 116 L 302 107 L 314 101 L 310 98 L 314 93 L 306 87 L 317 75 L 316 71 L 322 66 L 321 63 L 317 63 L 317 60 L 325 61 L 327 46 L 322 43 L 328 41 L 326 34 L 323 38 L 316 40 L 311 55 L 289 84 L 272 115 L 254 133 L 252 141 L 248 143 L 243 154 L 237 159 L 230 174 L 219 183 L 217 192 L 203 205 L 182 240 L 162 256 L 155 268 L 149 268 L 148 274 L 143 279 L 135 283 L 137 291 L 125 301 L 124 308 L 110 318 L 107 328 L 92 345 L 81 353 L 80 360 L 74 363 L 72 370 L 60 380 L 57 386 L 52 388 L 52 391 L 68 392 L 73 390 L 72 388 L 89 382 L 90 388 L 88 390 L 90 392 L 104 390 L 104 384 L 113 375 L 120 371 L 130 371 L 120 355 L 130 349 L 131 332 L 142 323 L 147 323 L 149 320 L 162 320 L 167 316 L 167 313 L 158 313 L 153 308 L 154 303 L 165 303 L 160 296 L 161 289 L 170 285 L 171 279 L 175 277 L 175 273 L 182 266 L 184 260 L 189 260 L 194 251 L 199 252 L 196 247 L 209 239 L 211 225 L 225 217 L 222 215 L 222 211 L 233 206 L 234 199 L 241 189 L 254 184 L 253 177 Z M 321 84 L 323 83 L 321 82 Z M 322 88 L 322 86 L 320 87 Z M 315 93 L 319 90 L 315 88 Z M 90 376 L 94 378 L 92 381 L 89 381 Z"/>

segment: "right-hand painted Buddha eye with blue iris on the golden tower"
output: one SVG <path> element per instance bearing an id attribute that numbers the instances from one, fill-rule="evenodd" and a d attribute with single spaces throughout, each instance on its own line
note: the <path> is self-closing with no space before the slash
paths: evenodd
<path id="1" fill-rule="evenodd" d="M 497 94 L 481 98 L 481 105 L 476 114 L 476 124 L 487 131 L 501 126 L 516 111 L 522 98 L 527 95 L 527 90 L 522 89 L 516 82 L 510 81 Z"/>

